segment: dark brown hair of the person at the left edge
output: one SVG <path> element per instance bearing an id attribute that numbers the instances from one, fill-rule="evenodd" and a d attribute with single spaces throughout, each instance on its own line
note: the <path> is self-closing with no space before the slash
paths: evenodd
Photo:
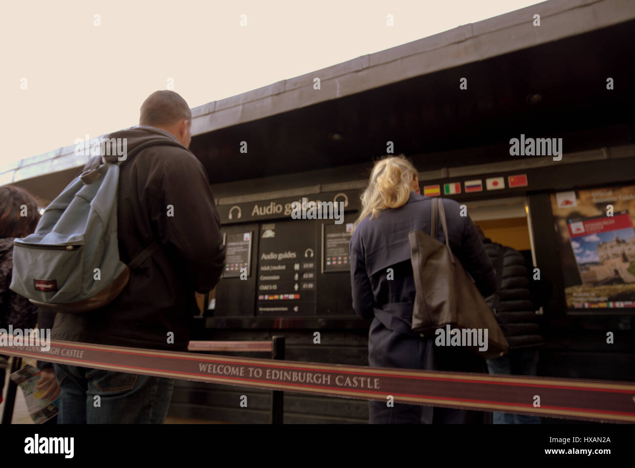
<path id="1" fill-rule="evenodd" d="M 37 201 L 29 192 L 15 185 L 0 187 L 0 239 L 28 236 L 39 218 Z"/>

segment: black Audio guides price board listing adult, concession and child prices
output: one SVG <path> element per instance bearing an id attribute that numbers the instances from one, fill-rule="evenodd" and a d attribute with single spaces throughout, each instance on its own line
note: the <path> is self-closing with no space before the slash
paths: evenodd
<path id="1" fill-rule="evenodd" d="M 315 224 L 291 220 L 262 224 L 258 252 L 258 315 L 316 312 Z"/>

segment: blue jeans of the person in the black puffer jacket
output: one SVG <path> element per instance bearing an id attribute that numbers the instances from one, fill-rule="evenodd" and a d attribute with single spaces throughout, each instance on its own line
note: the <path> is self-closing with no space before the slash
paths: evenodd
<path id="1" fill-rule="evenodd" d="M 505 356 L 487 360 L 490 374 L 536 375 L 538 350 L 536 348 L 512 349 Z M 494 424 L 540 424 L 537 416 L 494 413 Z"/>

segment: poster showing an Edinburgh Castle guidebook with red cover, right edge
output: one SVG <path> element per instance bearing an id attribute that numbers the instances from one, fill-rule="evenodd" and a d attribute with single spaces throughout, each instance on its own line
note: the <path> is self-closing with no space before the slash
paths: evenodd
<path id="1" fill-rule="evenodd" d="M 634 307 L 635 185 L 559 192 L 551 206 L 568 309 Z"/>

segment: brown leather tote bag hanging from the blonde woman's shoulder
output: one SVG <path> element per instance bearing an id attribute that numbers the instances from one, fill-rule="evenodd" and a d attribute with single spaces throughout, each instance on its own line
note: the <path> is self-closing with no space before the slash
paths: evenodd
<path id="1" fill-rule="evenodd" d="M 445 245 L 436 239 L 437 217 L 441 218 Z M 412 311 L 412 330 L 422 336 L 436 339 L 442 328 L 446 345 L 450 330 L 458 328 L 460 344 L 479 356 L 488 359 L 502 356 L 509 349 L 503 331 L 490 307 L 474 284 L 474 279 L 452 253 L 448 241 L 448 226 L 441 199 L 432 200 L 431 235 L 422 231 L 408 233 L 410 259 L 415 277 L 417 295 Z M 478 333 L 481 340 L 488 333 L 486 350 L 479 351 Z M 457 332 L 452 331 L 453 335 Z M 454 338 L 456 343 L 457 338 Z M 455 344 L 456 345 L 456 344 Z M 483 345 L 485 348 L 485 345 Z"/>

